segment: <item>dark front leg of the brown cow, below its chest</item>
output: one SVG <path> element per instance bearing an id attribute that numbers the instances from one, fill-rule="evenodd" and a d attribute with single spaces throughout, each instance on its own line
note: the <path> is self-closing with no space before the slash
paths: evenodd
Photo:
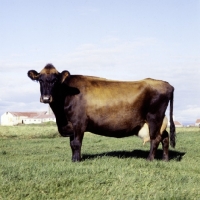
<path id="1" fill-rule="evenodd" d="M 81 161 L 81 146 L 82 146 L 83 134 L 78 136 L 70 136 L 70 146 L 72 149 L 72 161 Z"/>

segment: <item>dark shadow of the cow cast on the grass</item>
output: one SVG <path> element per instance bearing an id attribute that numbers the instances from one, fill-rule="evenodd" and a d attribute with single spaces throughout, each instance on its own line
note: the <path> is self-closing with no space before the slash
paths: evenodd
<path id="1" fill-rule="evenodd" d="M 158 149 L 156 151 L 155 159 L 162 160 L 162 153 L 163 151 L 161 149 Z M 104 152 L 104 153 L 97 153 L 97 154 L 83 154 L 82 160 L 94 159 L 94 158 L 103 157 L 103 156 L 117 157 L 120 159 L 124 159 L 124 158 L 146 159 L 148 155 L 149 155 L 149 151 L 135 149 L 133 151 L 111 151 L 111 152 Z M 181 161 L 184 155 L 185 155 L 185 152 L 170 150 L 169 160 Z"/>

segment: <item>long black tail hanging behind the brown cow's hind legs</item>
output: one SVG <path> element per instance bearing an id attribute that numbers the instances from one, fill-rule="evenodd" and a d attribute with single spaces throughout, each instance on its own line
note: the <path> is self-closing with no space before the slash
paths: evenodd
<path id="1" fill-rule="evenodd" d="M 173 101 L 174 101 L 174 91 L 171 93 L 171 98 L 170 98 L 170 113 L 169 113 L 169 122 L 170 122 L 170 145 L 171 147 L 175 148 L 176 146 L 176 130 L 175 130 L 175 125 L 174 125 L 174 120 L 173 120 Z"/>

